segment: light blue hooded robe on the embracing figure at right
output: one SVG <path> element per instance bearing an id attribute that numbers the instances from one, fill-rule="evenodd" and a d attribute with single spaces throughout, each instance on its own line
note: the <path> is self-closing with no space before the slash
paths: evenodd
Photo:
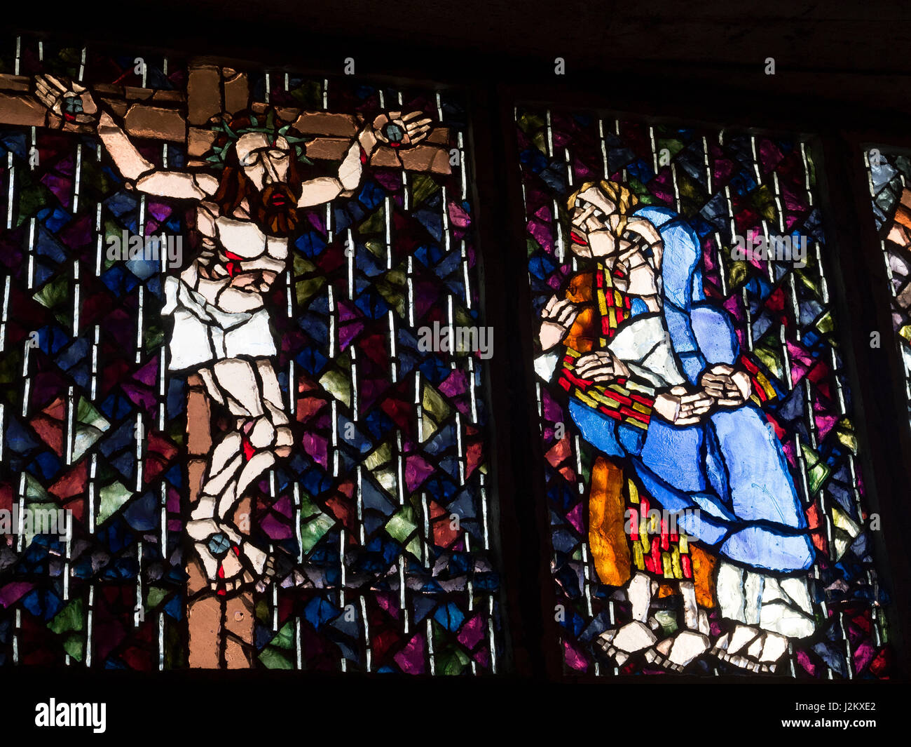
<path id="1" fill-rule="evenodd" d="M 706 368 L 737 360 L 732 320 L 705 299 L 700 242 L 691 227 L 666 208 L 644 207 L 634 214 L 661 234 L 661 314 L 681 371 L 696 384 Z M 637 299 L 633 316 L 644 311 Z M 569 413 L 596 449 L 629 457 L 646 491 L 663 508 L 682 514 L 681 533 L 711 552 L 737 565 L 783 573 L 813 565 L 804 509 L 782 445 L 752 403 L 718 410 L 686 427 L 653 414 L 648 431 L 576 399 L 570 399 Z"/>

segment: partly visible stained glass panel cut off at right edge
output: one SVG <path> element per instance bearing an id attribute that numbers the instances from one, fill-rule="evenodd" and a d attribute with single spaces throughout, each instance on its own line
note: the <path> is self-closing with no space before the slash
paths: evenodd
<path id="1" fill-rule="evenodd" d="M 907 155 L 879 148 L 865 153 L 876 231 L 883 249 L 885 271 L 892 291 L 892 323 L 905 366 L 905 391 L 911 407 L 911 160 Z M 882 340 L 878 341 L 882 344 Z"/>

